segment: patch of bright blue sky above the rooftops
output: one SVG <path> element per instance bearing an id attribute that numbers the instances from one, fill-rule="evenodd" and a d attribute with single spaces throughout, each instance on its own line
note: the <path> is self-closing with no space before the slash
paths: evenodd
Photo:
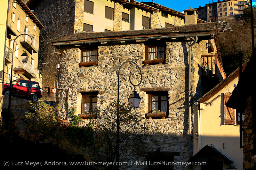
<path id="1" fill-rule="evenodd" d="M 217 1 L 218 0 L 215 0 L 213 2 Z M 152 0 L 143 0 L 143 2 L 152 2 Z M 153 2 L 180 12 L 190 7 L 198 8 L 199 5 L 205 6 L 205 4 L 209 4 L 209 0 L 153 0 Z M 210 0 L 210 3 L 212 3 L 212 0 Z"/>

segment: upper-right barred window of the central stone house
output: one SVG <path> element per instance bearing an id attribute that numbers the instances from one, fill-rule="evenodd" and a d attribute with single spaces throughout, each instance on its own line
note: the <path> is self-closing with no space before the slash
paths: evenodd
<path id="1" fill-rule="evenodd" d="M 163 45 L 159 46 L 146 46 L 146 60 L 154 60 L 157 58 L 162 58 L 165 60 L 165 47 Z"/>

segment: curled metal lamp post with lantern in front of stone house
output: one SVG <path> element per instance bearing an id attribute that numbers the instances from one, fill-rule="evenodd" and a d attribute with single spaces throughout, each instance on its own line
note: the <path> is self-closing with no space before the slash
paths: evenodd
<path id="1" fill-rule="evenodd" d="M 119 70 L 118 70 L 118 78 L 117 78 L 117 115 L 116 115 L 116 162 L 119 162 L 119 131 L 120 131 L 120 124 L 119 124 L 119 75 L 120 75 L 120 70 L 122 68 L 122 66 L 125 64 L 125 63 L 134 63 L 138 69 L 140 70 L 140 75 L 141 75 L 141 79 L 140 79 L 140 83 L 138 85 L 134 85 L 131 81 L 131 76 L 133 74 L 130 74 L 129 76 L 129 80 L 130 80 L 130 83 L 134 86 L 134 92 L 130 95 L 130 97 L 128 98 L 129 100 L 129 104 L 130 104 L 130 107 L 132 107 L 134 110 L 135 108 L 138 108 L 139 105 L 140 105 L 140 96 L 139 94 L 136 93 L 135 91 L 135 87 L 136 86 L 139 86 L 142 82 L 142 72 L 141 72 L 141 69 L 140 67 L 138 66 L 137 63 L 133 62 L 133 61 L 126 61 L 124 62 Z M 119 166 L 116 166 L 116 169 L 119 169 Z"/>

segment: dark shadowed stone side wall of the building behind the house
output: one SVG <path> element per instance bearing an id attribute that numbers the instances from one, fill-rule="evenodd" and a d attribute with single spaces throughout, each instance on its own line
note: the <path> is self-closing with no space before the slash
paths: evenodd
<path id="1" fill-rule="evenodd" d="M 36 17 L 45 27 L 40 31 L 38 53 L 38 68 L 43 75 L 43 87 L 53 87 L 54 76 L 58 75 L 56 64 L 59 63 L 59 55 L 53 53 L 53 50 L 58 51 L 55 47 L 50 46 L 50 43 L 74 33 L 77 6 L 77 1 L 44 0 L 38 2 L 35 8 Z M 77 15 L 78 13 L 76 13 Z M 79 20 L 76 21 L 76 25 L 78 22 Z"/>

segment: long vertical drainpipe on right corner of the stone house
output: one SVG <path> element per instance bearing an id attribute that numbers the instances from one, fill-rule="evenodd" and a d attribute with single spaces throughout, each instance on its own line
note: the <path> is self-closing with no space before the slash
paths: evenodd
<path id="1" fill-rule="evenodd" d="M 188 145 L 189 145 L 189 159 L 191 158 L 191 48 L 197 42 L 197 36 L 195 41 L 188 48 Z"/>

